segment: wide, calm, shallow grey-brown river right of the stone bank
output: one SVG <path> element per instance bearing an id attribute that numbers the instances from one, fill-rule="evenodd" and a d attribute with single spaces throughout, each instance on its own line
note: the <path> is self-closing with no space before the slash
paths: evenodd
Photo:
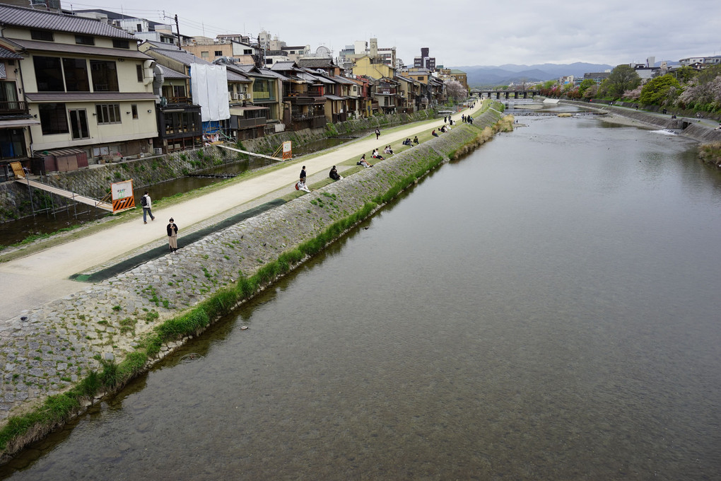
<path id="1" fill-rule="evenodd" d="M 719 480 L 720 242 L 693 143 L 521 117 L 5 476 Z"/>

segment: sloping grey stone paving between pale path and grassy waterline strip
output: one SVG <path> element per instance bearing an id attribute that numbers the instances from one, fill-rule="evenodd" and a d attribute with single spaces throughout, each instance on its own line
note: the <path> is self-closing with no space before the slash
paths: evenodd
<path id="1" fill-rule="evenodd" d="M 74 386 L 98 368 L 99 359 L 124 358 L 164 319 L 314 239 L 327 226 L 392 190 L 399 180 L 425 172 L 433 159 L 447 159 L 477 142 L 480 131 L 501 117 L 488 110 L 474 126 L 458 125 L 372 169 L 6 322 L 0 326 L 0 418 Z M 161 356 L 180 343 L 164 345 Z"/>

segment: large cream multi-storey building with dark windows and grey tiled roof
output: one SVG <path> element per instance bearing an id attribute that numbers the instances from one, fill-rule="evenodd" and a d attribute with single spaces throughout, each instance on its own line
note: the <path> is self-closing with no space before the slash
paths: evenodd
<path id="1" fill-rule="evenodd" d="M 154 60 L 133 35 L 94 19 L 8 5 L 0 5 L 0 22 L 0 46 L 22 57 L 22 94 L 40 120 L 29 125 L 29 153 L 42 152 L 46 169 L 152 153 Z M 75 159 L 53 164 L 53 151 L 68 148 Z"/>

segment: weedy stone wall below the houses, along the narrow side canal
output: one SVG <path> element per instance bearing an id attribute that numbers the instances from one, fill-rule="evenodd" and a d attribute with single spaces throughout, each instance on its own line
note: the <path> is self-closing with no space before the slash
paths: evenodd
<path id="1" fill-rule="evenodd" d="M 367 131 L 384 125 L 417 122 L 433 118 L 435 110 L 423 110 L 412 114 L 379 115 L 377 117 L 347 120 L 342 123 L 326 125 L 326 128 L 305 129 L 303 131 L 281 132 L 271 136 L 254 138 L 241 142 L 243 150 L 259 154 L 273 154 L 283 141 L 292 141 L 293 145 L 302 145 L 317 141 L 339 133 Z M 262 167 L 268 162 L 257 157 L 248 159 L 246 154 L 239 154 L 214 146 L 193 149 L 162 156 L 126 159 L 75 170 L 72 172 L 52 172 L 43 176 L 42 182 L 60 187 L 64 190 L 91 198 L 103 198 L 110 192 L 110 184 L 121 180 L 133 180 L 136 189 L 159 182 L 185 177 L 211 167 L 226 163 L 247 162 L 249 168 Z M 27 187 L 17 182 L 0 183 L 0 223 L 32 215 L 31 202 L 38 209 L 50 206 L 50 194 L 35 190 L 33 199 Z M 55 206 L 66 206 L 71 203 L 65 198 L 53 196 Z"/>

